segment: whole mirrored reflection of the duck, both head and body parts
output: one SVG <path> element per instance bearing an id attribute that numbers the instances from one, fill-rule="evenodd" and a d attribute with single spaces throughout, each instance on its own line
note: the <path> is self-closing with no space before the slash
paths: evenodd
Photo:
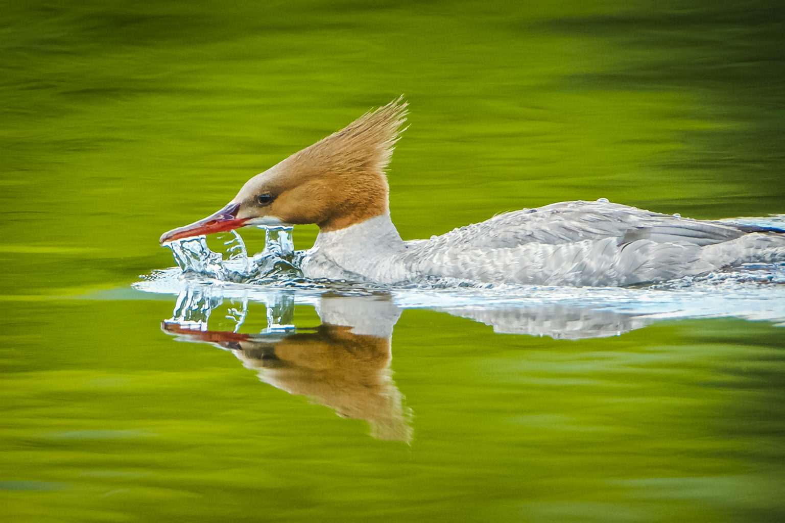
<path id="1" fill-rule="evenodd" d="M 338 415 L 363 419 L 371 436 L 411 442 L 411 413 L 392 381 L 392 329 L 401 309 L 391 294 L 322 294 L 305 302 L 316 307 L 322 324 L 294 327 L 295 294 L 273 290 L 254 295 L 264 302 L 268 327 L 260 334 L 239 333 L 248 298 L 229 309 L 234 331 L 211 331 L 210 313 L 224 300 L 207 286 L 181 291 L 173 316 L 162 329 L 188 342 L 211 343 L 235 354 L 262 382 L 332 408 Z M 644 327 L 646 316 L 590 306 L 453 307 L 438 309 L 471 318 L 507 334 L 552 338 L 603 338 Z"/>

